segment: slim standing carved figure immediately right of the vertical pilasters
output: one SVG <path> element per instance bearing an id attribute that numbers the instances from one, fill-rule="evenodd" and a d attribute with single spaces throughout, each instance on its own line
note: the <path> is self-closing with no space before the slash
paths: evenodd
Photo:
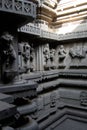
<path id="1" fill-rule="evenodd" d="M 44 58 L 45 58 L 45 65 L 49 66 L 49 62 L 50 62 L 50 49 L 49 49 L 49 44 L 47 43 L 45 48 L 44 48 Z"/>

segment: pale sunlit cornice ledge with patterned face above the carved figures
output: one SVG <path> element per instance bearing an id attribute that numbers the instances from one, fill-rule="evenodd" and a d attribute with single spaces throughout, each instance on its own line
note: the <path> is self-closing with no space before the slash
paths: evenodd
<path id="1" fill-rule="evenodd" d="M 56 41 L 63 41 L 63 40 L 70 40 L 70 39 L 79 39 L 79 38 L 86 38 L 87 31 L 78 31 L 78 32 L 71 32 L 65 34 L 57 34 L 52 33 L 50 31 L 42 30 L 40 27 L 36 27 L 34 25 L 25 25 L 18 29 L 19 32 L 24 32 L 28 34 L 39 35 L 41 38 L 53 39 Z"/>

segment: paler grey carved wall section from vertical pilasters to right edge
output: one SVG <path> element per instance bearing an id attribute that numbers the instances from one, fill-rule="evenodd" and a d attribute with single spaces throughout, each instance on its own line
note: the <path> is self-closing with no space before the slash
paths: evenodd
<path id="1" fill-rule="evenodd" d="M 87 68 L 87 42 L 37 46 L 37 70 Z"/>

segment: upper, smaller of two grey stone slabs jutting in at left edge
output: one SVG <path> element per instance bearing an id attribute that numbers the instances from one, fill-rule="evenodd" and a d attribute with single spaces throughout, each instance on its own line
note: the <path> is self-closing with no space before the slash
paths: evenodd
<path id="1" fill-rule="evenodd" d="M 14 98 L 11 95 L 0 93 L 0 101 L 12 103 L 14 101 Z"/>

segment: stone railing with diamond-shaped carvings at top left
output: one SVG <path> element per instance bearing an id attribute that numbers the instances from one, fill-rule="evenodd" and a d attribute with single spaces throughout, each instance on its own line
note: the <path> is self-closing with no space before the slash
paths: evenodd
<path id="1" fill-rule="evenodd" d="M 36 17 L 36 4 L 27 0 L 0 0 L 0 11 Z"/>

